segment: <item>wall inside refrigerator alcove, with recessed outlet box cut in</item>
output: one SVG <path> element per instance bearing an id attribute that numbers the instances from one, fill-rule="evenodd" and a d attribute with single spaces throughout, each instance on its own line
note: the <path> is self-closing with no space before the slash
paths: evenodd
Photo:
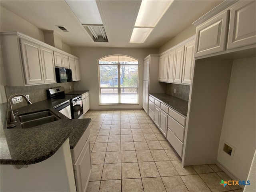
<path id="1" fill-rule="evenodd" d="M 246 180 L 256 149 L 256 58 L 233 60 L 217 160 L 240 180 Z M 233 159 L 223 141 L 234 146 Z"/>

